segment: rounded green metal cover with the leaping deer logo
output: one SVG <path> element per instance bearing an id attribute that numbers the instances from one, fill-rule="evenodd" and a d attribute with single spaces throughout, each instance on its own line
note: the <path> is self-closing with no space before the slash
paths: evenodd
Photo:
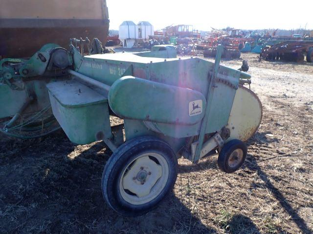
<path id="1" fill-rule="evenodd" d="M 193 125 L 204 116 L 206 101 L 192 89 L 128 76 L 113 83 L 109 104 L 119 117 Z"/>

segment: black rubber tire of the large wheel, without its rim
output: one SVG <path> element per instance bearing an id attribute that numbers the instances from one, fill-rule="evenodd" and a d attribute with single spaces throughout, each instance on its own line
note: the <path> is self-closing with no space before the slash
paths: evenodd
<path id="1" fill-rule="evenodd" d="M 157 152 L 167 161 L 169 178 L 164 189 L 152 201 L 133 205 L 125 201 L 119 191 L 119 181 L 125 167 L 142 153 Z M 143 215 L 156 208 L 158 203 L 173 190 L 178 174 L 177 157 L 171 146 L 156 137 L 136 137 L 126 141 L 109 158 L 102 174 L 102 194 L 109 206 L 117 213 L 125 216 Z"/>

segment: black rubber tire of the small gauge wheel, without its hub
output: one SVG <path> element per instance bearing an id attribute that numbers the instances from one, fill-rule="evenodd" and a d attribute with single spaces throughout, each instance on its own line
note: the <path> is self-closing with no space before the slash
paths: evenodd
<path id="1" fill-rule="evenodd" d="M 238 164 L 238 166 L 236 168 L 232 168 L 228 165 L 228 159 L 229 159 L 229 156 L 231 155 L 231 153 L 236 149 L 242 149 L 244 155 L 243 155 L 242 162 L 240 164 Z M 246 144 L 244 142 L 242 142 L 241 140 L 234 139 L 234 140 L 227 142 L 223 146 L 223 148 L 219 154 L 219 157 L 217 159 L 217 163 L 218 163 L 219 168 L 222 171 L 224 171 L 225 173 L 233 173 L 233 172 L 237 171 L 244 164 L 244 162 L 246 160 L 246 153 L 247 153 Z"/>

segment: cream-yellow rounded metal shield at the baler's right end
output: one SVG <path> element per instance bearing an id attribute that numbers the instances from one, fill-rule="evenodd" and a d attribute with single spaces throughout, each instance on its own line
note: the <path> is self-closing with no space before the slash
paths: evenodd
<path id="1" fill-rule="evenodd" d="M 230 137 L 226 142 L 232 139 L 248 140 L 258 130 L 262 115 L 260 99 L 251 90 L 240 85 L 228 119 Z"/>

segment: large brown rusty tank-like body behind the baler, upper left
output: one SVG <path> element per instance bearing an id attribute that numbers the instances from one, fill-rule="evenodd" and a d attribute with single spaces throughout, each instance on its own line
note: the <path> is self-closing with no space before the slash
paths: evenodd
<path id="1" fill-rule="evenodd" d="M 70 38 L 106 43 L 106 0 L 0 0 L 0 57 L 32 56 L 46 43 L 67 48 Z"/>

